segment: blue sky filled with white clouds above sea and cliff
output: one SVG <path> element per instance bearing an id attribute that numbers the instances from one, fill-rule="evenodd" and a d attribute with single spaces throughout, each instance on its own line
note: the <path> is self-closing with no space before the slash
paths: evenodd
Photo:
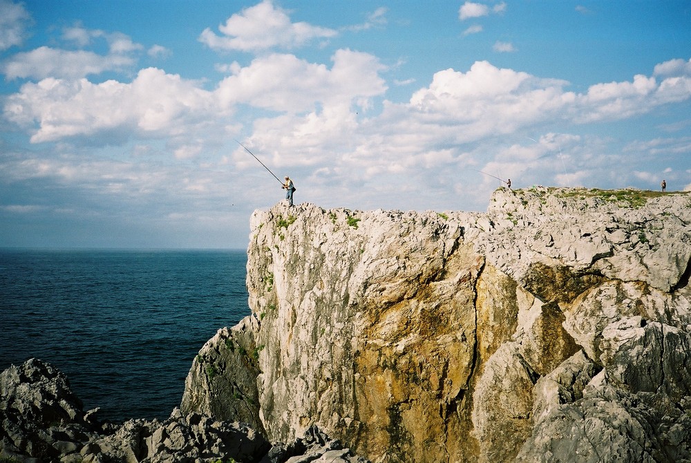
<path id="1" fill-rule="evenodd" d="M 691 190 L 690 1 L 0 0 L 0 73 L 0 247 L 246 247 L 234 140 L 324 208 Z"/>

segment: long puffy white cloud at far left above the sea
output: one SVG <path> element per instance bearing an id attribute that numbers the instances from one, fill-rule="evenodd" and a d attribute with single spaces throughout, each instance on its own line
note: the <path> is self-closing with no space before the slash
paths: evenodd
<path id="1" fill-rule="evenodd" d="M 54 78 L 24 84 L 7 98 L 4 115 L 32 131 L 32 142 L 50 142 L 113 131 L 174 136 L 197 124 L 209 106 L 211 94 L 195 83 L 146 68 L 131 84 Z"/>

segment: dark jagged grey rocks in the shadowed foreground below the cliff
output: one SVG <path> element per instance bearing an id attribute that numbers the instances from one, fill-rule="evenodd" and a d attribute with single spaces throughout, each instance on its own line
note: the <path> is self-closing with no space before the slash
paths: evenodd
<path id="1" fill-rule="evenodd" d="M 168 419 L 101 423 L 86 413 L 67 378 L 30 359 L 0 374 L 0 460 L 163 463 L 319 461 L 366 463 L 316 426 L 290 444 L 269 442 L 247 424 L 173 410 Z"/>

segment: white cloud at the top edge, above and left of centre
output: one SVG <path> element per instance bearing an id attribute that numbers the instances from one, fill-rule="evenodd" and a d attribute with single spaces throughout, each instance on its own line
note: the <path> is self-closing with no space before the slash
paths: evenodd
<path id="1" fill-rule="evenodd" d="M 213 50 L 258 52 L 271 48 L 298 48 L 312 39 L 337 35 L 335 30 L 306 22 L 292 23 L 287 12 L 274 6 L 272 0 L 264 0 L 232 15 L 218 30 L 223 35 L 216 35 L 206 28 L 199 41 Z"/>

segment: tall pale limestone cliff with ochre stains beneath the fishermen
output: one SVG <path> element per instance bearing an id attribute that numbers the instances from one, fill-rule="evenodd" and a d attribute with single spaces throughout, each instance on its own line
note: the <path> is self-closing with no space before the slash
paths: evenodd
<path id="1" fill-rule="evenodd" d="M 278 205 L 251 228 L 253 315 L 200 351 L 183 410 L 377 462 L 691 458 L 691 196 Z"/>

